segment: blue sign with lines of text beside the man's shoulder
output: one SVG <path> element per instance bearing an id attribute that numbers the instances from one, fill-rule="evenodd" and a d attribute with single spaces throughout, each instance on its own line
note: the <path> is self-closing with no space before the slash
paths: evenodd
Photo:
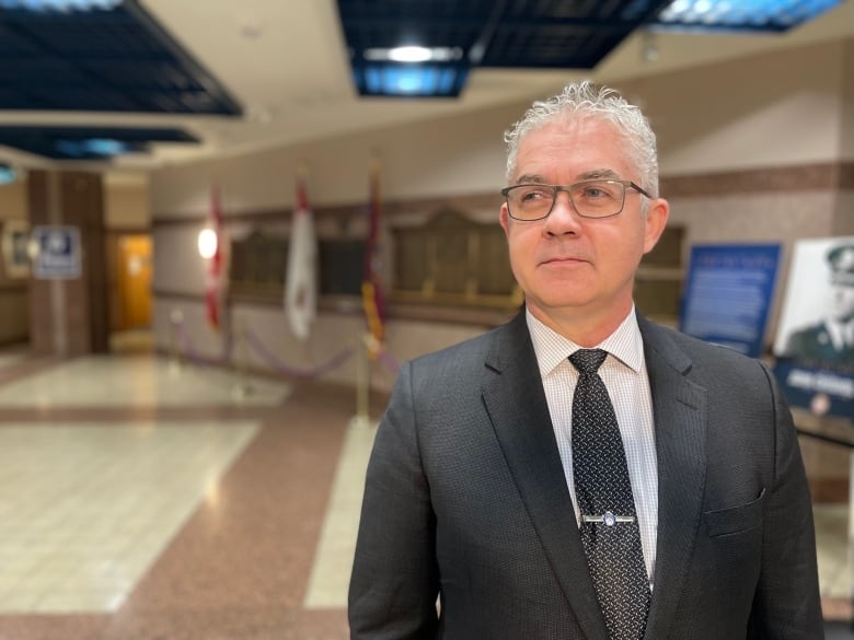
<path id="1" fill-rule="evenodd" d="M 778 261 L 778 244 L 693 247 L 680 330 L 759 358 Z"/>

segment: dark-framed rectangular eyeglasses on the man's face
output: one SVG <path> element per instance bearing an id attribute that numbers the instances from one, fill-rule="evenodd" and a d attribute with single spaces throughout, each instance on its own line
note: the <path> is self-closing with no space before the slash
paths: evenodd
<path id="1" fill-rule="evenodd" d="M 547 218 L 554 208 L 557 194 L 566 191 L 573 208 L 581 218 L 610 218 L 623 210 L 626 189 L 653 198 L 632 181 L 584 181 L 569 186 L 513 185 L 501 189 L 507 200 L 510 218 L 533 222 Z"/>

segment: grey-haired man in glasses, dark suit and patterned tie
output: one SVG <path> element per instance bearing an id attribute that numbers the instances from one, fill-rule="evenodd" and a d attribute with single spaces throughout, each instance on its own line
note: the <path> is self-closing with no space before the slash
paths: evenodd
<path id="1" fill-rule="evenodd" d="M 368 468 L 351 638 L 823 638 L 772 376 L 635 313 L 668 218 L 646 118 L 573 84 L 506 140 L 500 223 L 526 309 L 402 368 Z M 599 373 L 579 354 L 603 357 Z M 590 424 L 619 427 L 619 455 L 587 446 Z M 628 504 L 597 507 L 625 475 Z"/>

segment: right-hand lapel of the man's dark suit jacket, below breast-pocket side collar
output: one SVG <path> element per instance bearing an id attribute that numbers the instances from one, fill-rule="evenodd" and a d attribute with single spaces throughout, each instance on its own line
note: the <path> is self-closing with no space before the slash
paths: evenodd
<path id="1" fill-rule="evenodd" d="M 691 360 L 638 317 L 653 393 L 658 459 L 658 543 L 646 638 L 668 638 L 700 527 L 705 481 L 706 389 L 688 380 Z"/>

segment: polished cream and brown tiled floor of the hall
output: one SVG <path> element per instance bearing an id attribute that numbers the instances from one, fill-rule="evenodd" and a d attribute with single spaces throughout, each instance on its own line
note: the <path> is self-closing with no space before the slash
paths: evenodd
<path id="1" fill-rule="evenodd" d="M 344 640 L 376 431 L 355 405 L 138 352 L 0 354 L 0 640 Z M 847 507 L 816 522 L 850 617 Z"/>

